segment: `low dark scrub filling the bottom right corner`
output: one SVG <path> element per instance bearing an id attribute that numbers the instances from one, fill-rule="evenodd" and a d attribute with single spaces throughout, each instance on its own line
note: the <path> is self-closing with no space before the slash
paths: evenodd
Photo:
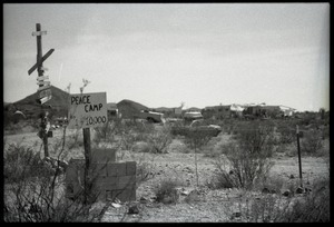
<path id="1" fill-rule="evenodd" d="M 278 181 L 277 181 L 278 180 Z M 274 178 L 279 188 L 281 179 Z M 242 191 L 236 200 L 224 204 L 225 213 L 234 217 L 235 211 L 246 223 L 327 223 L 330 221 L 328 180 L 320 180 L 313 190 L 303 196 L 285 197 L 277 194 Z"/>

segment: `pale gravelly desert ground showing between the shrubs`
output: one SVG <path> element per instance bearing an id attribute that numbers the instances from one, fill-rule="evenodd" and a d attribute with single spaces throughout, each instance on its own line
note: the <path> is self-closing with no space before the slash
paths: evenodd
<path id="1" fill-rule="evenodd" d="M 155 126 L 157 130 L 161 126 Z M 66 130 L 67 142 L 72 142 L 73 136 L 77 137 L 77 146 L 68 150 L 66 160 L 70 158 L 84 157 L 82 130 Z M 91 138 L 95 131 L 91 130 Z M 253 223 L 253 221 L 273 221 L 266 219 L 263 215 L 266 213 L 268 199 L 276 201 L 289 201 L 306 197 L 305 194 L 295 194 L 299 185 L 298 157 L 296 155 L 297 144 L 291 142 L 284 149 L 276 151 L 271 161 L 273 166 L 268 174 L 272 179 L 274 194 L 263 193 L 264 185 L 258 184 L 252 190 L 243 188 L 214 188 L 210 187 L 213 177 L 218 172 L 215 165 L 217 156 L 210 155 L 219 150 L 222 144 L 230 140 L 232 135 L 220 132 L 217 137 L 210 139 L 207 146 L 197 150 L 198 185 L 196 180 L 195 154 L 185 145 L 183 137 L 174 136 L 164 154 L 145 152 L 145 141 L 136 141 L 128 150 L 119 149 L 117 151 L 117 161 L 137 161 L 137 168 L 143 168 L 147 174 L 146 178 L 138 180 L 136 190 L 136 201 L 111 204 L 105 211 L 101 221 L 144 221 L 144 223 Z M 53 137 L 49 138 L 50 155 L 57 158 L 56 148 L 61 145 L 63 129 L 58 128 L 53 131 Z M 92 139 L 94 140 L 94 139 Z M 9 144 L 33 147 L 42 154 L 42 141 L 37 137 L 37 132 L 26 132 L 19 135 L 4 136 L 4 149 Z M 328 139 L 323 141 L 323 150 L 326 155 L 306 156 L 302 152 L 302 177 L 303 185 L 316 191 L 316 184 L 321 179 L 328 178 Z M 108 141 L 91 142 L 95 146 L 112 147 Z M 137 170 L 138 171 L 138 170 Z M 178 191 L 177 199 L 173 203 L 157 201 L 156 191 L 163 181 L 176 182 Z M 289 190 L 293 196 L 283 196 L 284 191 Z M 255 211 L 254 201 L 261 204 Z M 263 201 L 263 203 L 261 203 Z M 96 206 L 102 206 L 106 203 L 97 203 Z M 129 207 L 136 206 L 136 213 L 129 213 Z M 282 205 L 284 206 L 284 205 Z M 275 220 L 274 220 L 275 221 Z"/>

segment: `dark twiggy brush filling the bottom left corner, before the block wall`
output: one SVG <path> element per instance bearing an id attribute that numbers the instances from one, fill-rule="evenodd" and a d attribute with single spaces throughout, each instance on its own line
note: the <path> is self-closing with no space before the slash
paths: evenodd
<path id="1" fill-rule="evenodd" d="M 84 203 L 84 190 L 75 198 L 66 196 L 61 160 L 65 151 L 57 144 L 55 165 L 48 165 L 33 149 L 11 145 L 4 150 L 4 206 L 6 221 L 96 221 L 101 218 L 105 207 L 91 213 L 97 199 L 96 194 Z M 94 185 L 96 178 L 90 178 L 88 186 Z M 106 205 L 107 206 L 107 205 Z"/>

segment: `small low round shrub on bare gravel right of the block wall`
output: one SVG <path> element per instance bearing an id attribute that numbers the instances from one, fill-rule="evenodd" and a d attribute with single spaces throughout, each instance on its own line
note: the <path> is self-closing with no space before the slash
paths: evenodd
<path id="1" fill-rule="evenodd" d="M 181 185 L 177 178 L 169 177 L 163 179 L 155 189 L 156 200 L 164 204 L 176 204 L 179 199 L 179 194 L 176 188 Z"/>

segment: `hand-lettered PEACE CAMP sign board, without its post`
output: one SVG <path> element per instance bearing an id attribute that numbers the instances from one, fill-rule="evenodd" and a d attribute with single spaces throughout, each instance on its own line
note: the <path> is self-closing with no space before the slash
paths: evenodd
<path id="1" fill-rule="evenodd" d="M 76 93 L 70 95 L 68 128 L 90 128 L 104 126 L 107 118 L 107 93 Z"/>

